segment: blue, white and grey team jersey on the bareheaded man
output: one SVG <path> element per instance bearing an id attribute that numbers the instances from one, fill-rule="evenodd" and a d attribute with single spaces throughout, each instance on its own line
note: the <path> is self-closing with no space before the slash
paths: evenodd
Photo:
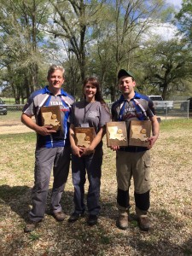
<path id="1" fill-rule="evenodd" d="M 69 115 L 71 113 L 74 99 L 61 89 L 61 94 L 54 96 L 48 85 L 43 89 L 34 91 L 23 108 L 23 113 L 28 116 L 35 116 L 36 123 L 42 125 L 40 109 L 43 106 L 60 106 L 61 110 L 61 131 L 52 133 L 49 136 L 37 134 L 37 147 L 57 148 L 69 145 Z"/>

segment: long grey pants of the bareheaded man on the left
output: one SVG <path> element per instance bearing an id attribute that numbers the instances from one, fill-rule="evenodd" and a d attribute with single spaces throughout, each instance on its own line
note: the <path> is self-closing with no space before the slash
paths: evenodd
<path id="1" fill-rule="evenodd" d="M 32 210 L 29 212 L 32 221 L 39 222 L 44 218 L 52 168 L 54 176 L 51 195 L 52 212 L 61 212 L 60 201 L 67 182 L 70 151 L 70 147 L 36 148 Z"/>

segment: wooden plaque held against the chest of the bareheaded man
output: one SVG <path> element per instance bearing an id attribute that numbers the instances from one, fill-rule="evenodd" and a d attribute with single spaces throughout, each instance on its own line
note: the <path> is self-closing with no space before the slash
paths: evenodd
<path id="1" fill-rule="evenodd" d="M 43 125 L 52 125 L 55 131 L 61 130 L 60 106 L 41 107 Z"/>

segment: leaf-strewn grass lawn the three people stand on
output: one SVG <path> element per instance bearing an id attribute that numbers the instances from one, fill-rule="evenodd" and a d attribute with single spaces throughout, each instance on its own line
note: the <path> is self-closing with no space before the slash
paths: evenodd
<path id="1" fill-rule="evenodd" d="M 31 234 L 23 228 L 31 206 L 34 132 L 0 135 L 0 253 L 1 255 L 192 255 L 192 119 L 160 123 L 160 137 L 151 149 L 151 230 L 140 231 L 134 212 L 131 184 L 131 221 L 128 230 L 116 227 L 115 154 L 106 147 L 102 165 L 101 215 L 90 227 L 85 218 L 58 223 L 49 214 Z M 85 189 L 88 188 L 86 182 Z M 71 173 L 62 197 L 67 218 L 73 212 Z"/>

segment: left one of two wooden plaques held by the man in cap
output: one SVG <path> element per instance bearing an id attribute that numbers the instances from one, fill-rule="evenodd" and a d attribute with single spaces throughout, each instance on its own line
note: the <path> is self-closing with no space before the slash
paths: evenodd
<path id="1" fill-rule="evenodd" d="M 123 121 L 120 122 L 108 122 L 106 125 L 106 137 L 107 137 L 107 145 L 111 146 L 119 146 L 119 147 L 127 147 L 127 130 L 126 124 Z"/>

